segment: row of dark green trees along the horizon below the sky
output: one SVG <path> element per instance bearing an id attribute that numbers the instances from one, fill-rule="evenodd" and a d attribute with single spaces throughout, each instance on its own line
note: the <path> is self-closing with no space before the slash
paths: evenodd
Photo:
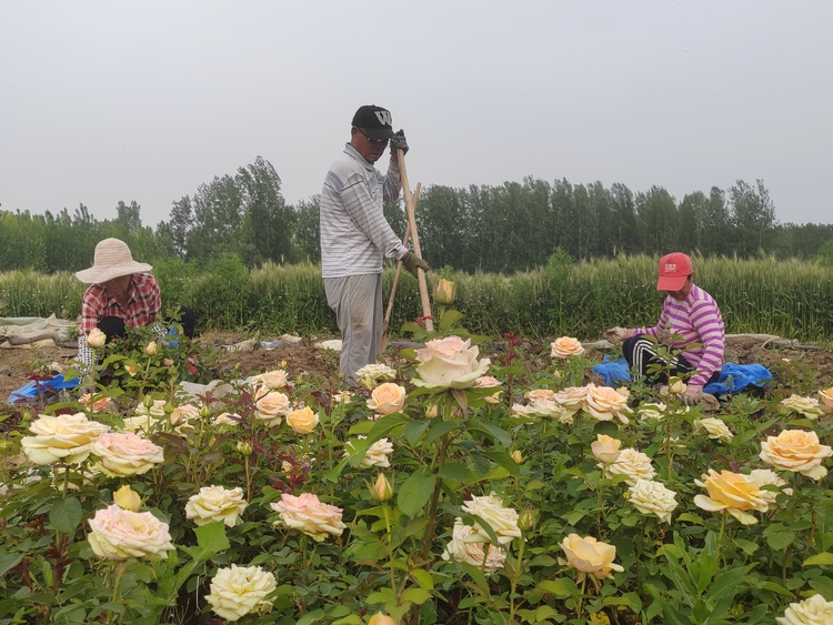
<path id="1" fill-rule="evenodd" d="M 402 203 L 385 213 L 404 232 Z M 119 202 L 110 220 L 96 219 L 83 204 L 71 214 L 0 210 L 0 271 L 77 271 L 90 265 L 96 243 L 107 236 L 123 239 L 145 262 L 201 263 L 222 254 L 247 266 L 318 262 L 318 196 L 288 204 L 274 168 L 258 157 L 174 201 L 155 229 L 142 224 L 136 202 Z M 432 265 L 468 272 L 529 270 L 556 249 L 579 260 L 672 250 L 806 259 L 833 240 L 833 224 L 779 223 L 761 180 L 695 191 L 680 202 L 661 187 L 634 193 L 618 183 L 528 178 L 499 187 L 434 185 L 421 192 L 416 221 Z"/>

